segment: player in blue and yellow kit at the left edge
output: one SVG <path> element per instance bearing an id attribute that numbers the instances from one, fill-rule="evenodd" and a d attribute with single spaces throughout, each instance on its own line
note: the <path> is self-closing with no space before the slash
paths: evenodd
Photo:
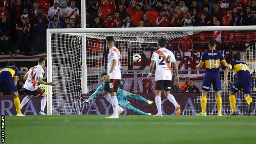
<path id="1" fill-rule="evenodd" d="M 7 88 L 7 91 L 14 96 L 14 105 L 16 107 L 16 116 L 24 117 L 21 113 L 21 102 L 18 97 L 17 90 L 17 82 L 18 82 L 18 68 L 15 67 L 15 62 L 9 61 L 6 67 L 0 68 L 0 93 L 4 87 Z"/>

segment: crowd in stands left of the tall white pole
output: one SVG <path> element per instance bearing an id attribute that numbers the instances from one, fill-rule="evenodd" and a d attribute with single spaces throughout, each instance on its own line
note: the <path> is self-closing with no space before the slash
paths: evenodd
<path id="1" fill-rule="evenodd" d="M 0 0 L 0 53 L 46 52 L 47 28 L 81 27 L 80 0 Z"/>

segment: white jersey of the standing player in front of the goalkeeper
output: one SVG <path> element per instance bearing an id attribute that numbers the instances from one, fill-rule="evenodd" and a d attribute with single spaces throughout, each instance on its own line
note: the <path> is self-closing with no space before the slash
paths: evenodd
<path id="1" fill-rule="evenodd" d="M 117 80 L 121 80 L 122 75 L 121 75 L 121 64 L 120 64 L 120 56 L 121 53 L 119 52 L 119 50 L 113 46 L 109 53 L 108 53 L 108 57 L 107 57 L 107 73 L 109 74 L 110 69 L 112 67 L 112 60 L 116 59 L 117 63 L 116 66 L 114 67 L 114 70 L 112 71 L 111 75 L 110 75 L 110 79 L 117 79 Z"/>

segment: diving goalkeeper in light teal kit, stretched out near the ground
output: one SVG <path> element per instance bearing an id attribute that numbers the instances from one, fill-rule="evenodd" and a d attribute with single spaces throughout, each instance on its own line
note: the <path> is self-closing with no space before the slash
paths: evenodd
<path id="1" fill-rule="evenodd" d="M 88 100 L 83 101 L 82 103 L 90 103 L 90 101 L 99 93 L 101 93 L 104 89 L 104 82 L 105 82 L 105 78 L 107 76 L 107 73 L 102 73 L 101 74 L 101 78 L 103 83 L 96 89 L 96 91 L 88 98 Z M 120 82 L 120 85 L 123 85 L 123 82 Z M 110 94 L 108 94 L 107 96 L 105 96 L 105 98 L 107 99 L 107 101 L 109 103 L 111 103 L 111 98 L 110 98 Z M 153 101 L 149 101 L 145 98 L 143 98 L 142 96 L 139 96 L 137 94 L 132 94 L 128 91 L 124 91 L 122 89 L 118 89 L 117 90 L 117 100 L 118 103 L 120 105 L 122 105 L 123 107 L 126 107 L 128 110 L 131 110 L 137 114 L 142 114 L 142 115 L 151 115 L 151 113 L 146 113 L 146 112 L 142 112 L 141 110 L 133 107 L 130 102 L 128 101 L 131 98 L 135 98 L 139 101 L 144 101 L 146 103 L 148 103 L 149 105 L 152 105 Z M 121 114 L 123 112 L 123 108 L 121 108 L 120 106 L 118 107 L 118 114 Z"/>

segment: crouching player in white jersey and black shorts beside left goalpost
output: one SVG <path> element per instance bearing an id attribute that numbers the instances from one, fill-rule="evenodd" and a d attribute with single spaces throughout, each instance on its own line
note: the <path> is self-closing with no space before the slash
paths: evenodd
<path id="1" fill-rule="evenodd" d="M 35 96 L 36 98 L 39 98 L 40 96 L 42 96 L 41 99 L 41 111 L 39 112 L 40 115 L 46 115 L 44 112 L 44 108 L 46 106 L 46 101 L 47 101 L 47 94 L 46 92 L 44 92 L 43 90 L 41 90 L 38 86 L 38 84 L 44 84 L 44 85 L 51 85 L 51 86 L 55 86 L 55 84 L 53 82 L 45 82 L 42 80 L 43 75 L 44 75 L 44 70 L 43 70 L 43 66 L 45 65 L 45 58 L 44 57 L 40 57 L 38 59 L 38 65 L 32 67 L 25 75 L 25 92 L 27 94 L 27 96 L 25 98 L 23 98 L 22 102 L 21 102 L 21 109 L 22 107 L 30 100 L 30 98 L 32 98 L 33 96 Z"/>

